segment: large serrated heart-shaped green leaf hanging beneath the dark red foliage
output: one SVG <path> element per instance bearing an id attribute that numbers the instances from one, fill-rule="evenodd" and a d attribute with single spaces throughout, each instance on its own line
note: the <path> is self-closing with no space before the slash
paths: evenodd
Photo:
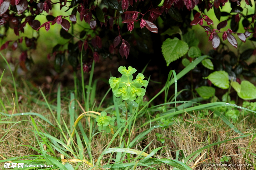
<path id="1" fill-rule="evenodd" d="M 162 53 L 167 66 L 188 52 L 188 44 L 179 40 L 177 37 L 173 39 L 167 38 L 162 45 Z"/>

